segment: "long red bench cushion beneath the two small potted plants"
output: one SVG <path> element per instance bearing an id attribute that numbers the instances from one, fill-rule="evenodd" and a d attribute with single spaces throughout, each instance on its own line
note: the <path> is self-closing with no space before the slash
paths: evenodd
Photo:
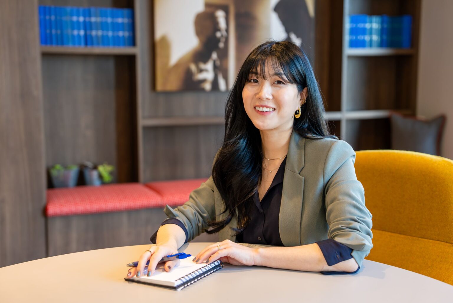
<path id="1" fill-rule="evenodd" d="M 163 206 L 161 195 L 141 183 L 76 186 L 48 189 L 46 215 L 96 214 Z"/>

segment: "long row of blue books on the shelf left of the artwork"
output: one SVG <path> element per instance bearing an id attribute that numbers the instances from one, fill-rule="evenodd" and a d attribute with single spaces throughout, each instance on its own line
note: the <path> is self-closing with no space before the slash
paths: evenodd
<path id="1" fill-rule="evenodd" d="M 128 47 L 134 45 L 134 11 L 39 5 L 41 45 Z"/>

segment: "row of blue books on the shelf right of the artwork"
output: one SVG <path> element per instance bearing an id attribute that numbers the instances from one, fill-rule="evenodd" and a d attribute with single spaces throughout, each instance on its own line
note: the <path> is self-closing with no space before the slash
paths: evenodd
<path id="1" fill-rule="evenodd" d="M 350 15 L 349 47 L 410 48 L 412 16 Z"/>

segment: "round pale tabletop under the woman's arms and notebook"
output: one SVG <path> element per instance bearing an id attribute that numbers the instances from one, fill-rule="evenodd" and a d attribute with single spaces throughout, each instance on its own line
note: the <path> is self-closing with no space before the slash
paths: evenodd
<path id="1" fill-rule="evenodd" d="M 195 255 L 209 244 L 185 244 L 180 251 Z M 149 246 L 91 250 L 0 268 L 0 302 L 453 302 L 452 285 L 369 260 L 348 275 L 225 264 L 181 291 L 125 281 L 125 264 Z"/>

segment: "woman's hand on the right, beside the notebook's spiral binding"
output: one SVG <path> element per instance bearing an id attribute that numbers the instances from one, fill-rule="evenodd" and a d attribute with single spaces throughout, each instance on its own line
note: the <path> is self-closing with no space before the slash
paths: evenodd
<path id="1" fill-rule="evenodd" d="M 220 250 L 217 245 L 220 245 Z M 200 264 L 208 258 L 209 260 L 206 264 L 220 259 L 222 262 L 233 265 L 256 265 L 258 249 L 246 247 L 231 240 L 225 240 L 207 246 L 197 254 L 194 262 Z"/>

